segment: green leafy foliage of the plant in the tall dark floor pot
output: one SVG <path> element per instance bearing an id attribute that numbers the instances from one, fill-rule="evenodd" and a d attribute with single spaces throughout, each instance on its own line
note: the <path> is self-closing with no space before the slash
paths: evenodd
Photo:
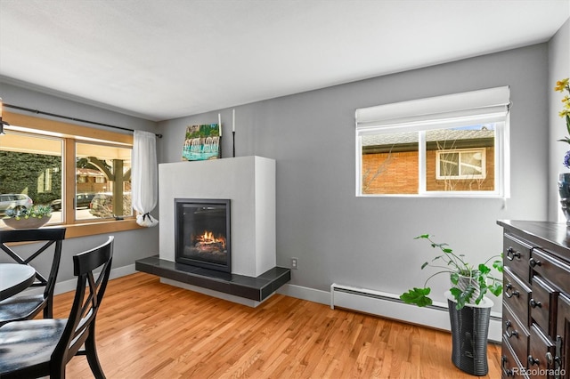
<path id="1" fill-rule="evenodd" d="M 450 292 L 457 303 L 457 310 L 462 309 L 468 303 L 479 304 L 487 292 L 491 292 L 495 296 L 501 294 L 502 278 L 494 277 L 488 264 L 493 258 L 501 258 L 494 260 L 492 267 L 502 272 L 502 254 L 494 255 L 484 263 L 475 266 L 466 262 L 463 254 L 453 253 L 453 250 L 446 243 L 436 243 L 429 234 L 422 234 L 414 239 L 428 240 L 432 247 L 440 250 L 443 254 L 437 255 L 431 262 L 424 262 L 421 265 L 421 270 L 426 267 L 439 270 L 426 279 L 423 288 L 413 287 L 400 295 L 400 299 L 404 302 L 416 304 L 419 307 L 431 305 L 433 301 L 428 296 L 431 292 L 428 281 L 439 274 L 450 276 L 452 282 Z"/>

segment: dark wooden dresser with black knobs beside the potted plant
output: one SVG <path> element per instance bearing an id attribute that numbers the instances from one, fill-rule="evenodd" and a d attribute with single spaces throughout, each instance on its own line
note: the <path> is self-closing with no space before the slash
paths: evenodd
<path id="1" fill-rule="evenodd" d="M 503 228 L 502 377 L 570 378 L 570 228 Z"/>

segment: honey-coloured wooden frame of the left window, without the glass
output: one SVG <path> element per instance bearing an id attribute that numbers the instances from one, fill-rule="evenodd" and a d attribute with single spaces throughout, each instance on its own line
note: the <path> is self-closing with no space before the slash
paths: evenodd
<path id="1" fill-rule="evenodd" d="M 4 125 L 8 132 L 18 131 L 37 135 L 53 136 L 63 140 L 61 200 L 64 210 L 61 224 L 53 224 L 67 228 L 66 238 L 91 236 L 124 230 L 141 229 L 136 223 L 136 217 L 124 216 L 122 220 L 76 220 L 74 199 L 76 196 L 76 151 L 75 144 L 80 142 L 102 142 L 123 145 L 132 149 L 134 138 L 132 134 L 115 133 L 93 127 L 63 123 L 50 118 L 31 117 L 20 113 L 4 110 L 3 119 L 10 125 Z M 0 136 L 0 138 L 2 138 Z M 73 169 L 68 170 L 71 167 Z"/>

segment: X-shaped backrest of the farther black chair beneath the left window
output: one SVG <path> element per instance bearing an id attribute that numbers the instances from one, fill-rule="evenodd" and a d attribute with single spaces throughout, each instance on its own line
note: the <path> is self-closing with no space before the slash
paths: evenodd
<path id="1" fill-rule="evenodd" d="M 34 268 L 34 270 L 36 270 L 36 281 L 32 286 L 45 286 L 45 298 L 53 296 L 57 273 L 60 270 L 61 245 L 63 239 L 65 239 L 65 230 L 65 228 L 0 230 L 0 249 L 4 250 L 6 254 L 10 255 L 14 261 L 20 264 L 27 264 L 33 267 L 29 262 L 36 259 L 39 254 L 44 253 L 50 246 L 54 245 L 52 268 L 50 269 L 48 277 L 45 278 L 37 268 Z M 33 254 L 30 254 L 28 258 L 24 259 L 20 257 L 11 246 L 6 245 L 13 242 L 45 242 L 45 244 L 40 246 Z"/>

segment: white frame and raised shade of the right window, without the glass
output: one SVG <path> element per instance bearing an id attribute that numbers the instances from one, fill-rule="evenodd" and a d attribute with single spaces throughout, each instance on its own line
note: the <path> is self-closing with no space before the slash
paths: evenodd
<path id="1" fill-rule="evenodd" d="M 509 198 L 509 86 L 401 101 L 355 110 L 355 196 L 362 198 Z M 490 190 L 427 190 L 426 132 L 435 129 L 496 123 L 494 181 Z M 417 132 L 418 192 L 413 194 L 363 193 L 362 136 Z"/>

